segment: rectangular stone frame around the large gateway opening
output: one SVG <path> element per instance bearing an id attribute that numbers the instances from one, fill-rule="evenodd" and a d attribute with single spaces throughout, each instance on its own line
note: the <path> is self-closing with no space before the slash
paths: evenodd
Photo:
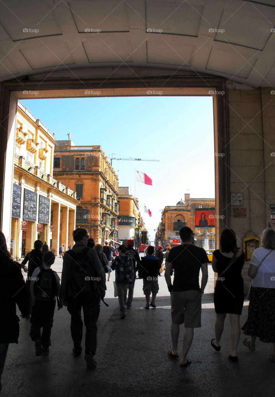
<path id="1" fill-rule="evenodd" d="M 229 173 L 229 106 L 226 79 L 208 75 L 135 77 L 135 78 L 101 78 L 101 79 L 51 79 L 29 81 L 6 81 L 0 83 L 0 222 L 4 226 L 5 198 L 11 189 L 10 177 L 13 175 L 13 156 L 15 135 L 15 114 L 17 100 L 38 98 L 81 98 L 97 96 L 212 96 L 214 121 L 214 156 L 215 163 L 215 197 L 216 247 L 220 227 L 230 227 L 230 173 Z M 36 77 L 37 78 L 37 77 Z M 90 94 L 87 92 L 90 91 Z M 154 93 L 155 92 L 155 93 Z M 220 94 L 223 93 L 223 94 Z M 12 157 L 12 158 L 11 158 Z M 189 171 L 190 172 L 190 171 Z M 8 181 L 8 184 L 4 182 Z M 11 184 L 12 185 L 12 184 Z M 6 201 L 7 202 L 7 201 Z M 8 201 L 11 202 L 10 200 Z M 10 214 L 8 214 L 9 216 Z M 7 217 L 7 214 L 6 214 Z M 6 218 L 7 221 L 8 218 Z M 11 217 L 10 217 L 11 222 Z M 6 225 L 7 229 L 7 225 Z M 10 229 L 10 225 L 9 225 Z"/>

